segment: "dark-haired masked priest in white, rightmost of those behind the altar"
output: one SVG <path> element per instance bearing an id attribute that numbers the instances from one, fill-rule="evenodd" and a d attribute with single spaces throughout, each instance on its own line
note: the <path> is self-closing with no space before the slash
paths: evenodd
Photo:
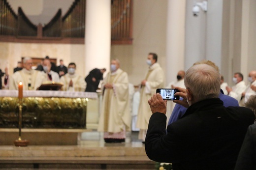
<path id="1" fill-rule="evenodd" d="M 85 91 L 86 83 L 82 76 L 75 73 L 76 64 L 71 62 L 67 67 L 67 74 L 61 77 L 64 91 Z"/>

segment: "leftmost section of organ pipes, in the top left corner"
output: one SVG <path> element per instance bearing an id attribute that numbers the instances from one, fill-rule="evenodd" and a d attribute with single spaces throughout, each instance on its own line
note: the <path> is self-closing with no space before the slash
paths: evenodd
<path id="1" fill-rule="evenodd" d="M 0 0 L 0 35 L 17 34 L 18 16 L 6 0 Z"/>

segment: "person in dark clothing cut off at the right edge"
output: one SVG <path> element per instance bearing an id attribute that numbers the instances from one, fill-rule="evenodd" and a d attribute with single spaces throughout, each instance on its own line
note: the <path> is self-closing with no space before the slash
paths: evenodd
<path id="1" fill-rule="evenodd" d="M 256 95 L 251 96 L 245 103 L 256 114 Z M 256 123 L 248 127 L 235 170 L 256 170 Z"/>

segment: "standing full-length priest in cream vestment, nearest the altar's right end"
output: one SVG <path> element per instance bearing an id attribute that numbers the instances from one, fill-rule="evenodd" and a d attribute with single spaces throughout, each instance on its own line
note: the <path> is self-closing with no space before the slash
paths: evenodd
<path id="1" fill-rule="evenodd" d="M 131 126 L 129 82 L 118 59 L 111 60 L 111 72 L 101 86 L 103 97 L 98 131 L 104 132 L 105 142 L 125 142 L 126 131 L 130 131 Z"/>

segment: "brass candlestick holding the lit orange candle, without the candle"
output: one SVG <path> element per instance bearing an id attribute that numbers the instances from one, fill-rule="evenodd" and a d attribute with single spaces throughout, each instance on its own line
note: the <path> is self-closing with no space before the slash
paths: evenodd
<path id="1" fill-rule="evenodd" d="M 19 139 L 14 141 L 15 146 L 28 146 L 28 140 L 21 139 L 21 125 L 22 125 L 22 98 L 19 98 Z"/>

